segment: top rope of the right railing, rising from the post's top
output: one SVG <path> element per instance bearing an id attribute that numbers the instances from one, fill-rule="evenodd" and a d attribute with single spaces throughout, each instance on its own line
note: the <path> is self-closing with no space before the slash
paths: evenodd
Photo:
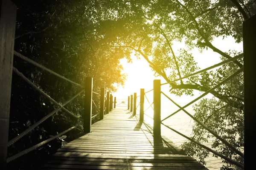
<path id="1" fill-rule="evenodd" d="M 197 71 L 197 72 L 195 72 L 195 73 L 189 74 L 188 76 L 181 77 L 181 78 L 179 78 L 179 79 L 175 79 L 175 80 L 173 80 L 173 81 L 166 82 L 166 83 L 163 83 L 163 84 L 161 84 L 161 85 L 170 84 L 170 83 L 173 83 L 173 82 L 177 82 L 177 81 L 179 81 L 179 80 L 182 80 L 182 79 L 189 78 L 189 77 L 191 77 L 191 76 L 195 76 L 195 75 L 200 74 L 200 73 L 202 73 L 202 72 L 204 72 L 204 71 L 211 70 L 212 68 L 216 68 L 216 67 L 221 66 L 221 65 L 223 65 L 223 64 L 226 64 L 226 63 L 228 63 L 228 62 L 233 62 L 233 61 L 235 61 L 236 59 L 240 59 L 240 58 L 242 58 L 242 57 L 243 57 L 242 55 L 239 55 L 239 56 L 233 57 L 233 58 L 231 58 L 231 59 L 227 59 L 227 60 L 225 60 L 225 61 L 223 61 L 223 62 L 219 62 L 218 64 L 215 64 L 215 65 L 212 65 L 212 66 L 210 66 L 210 67 L 204 68 L 203 70 L 200 70 L 200 71 Z"/>

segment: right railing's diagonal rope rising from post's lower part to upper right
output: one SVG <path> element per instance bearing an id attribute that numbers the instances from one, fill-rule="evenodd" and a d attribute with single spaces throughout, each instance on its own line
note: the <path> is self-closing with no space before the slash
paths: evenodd
<path id="1" fill-rule="evenodd" d="M 234 74 L 232 74 L 230 77 L 224 79 L 222 82 L 219 82 L 217 85 L 215 85 L 213 88 L 210 88 L 208 91 L 206 91 L 204 94 L 200 95 L 199 97 L 197 97 L 196 99 L 192 100 L 191 102 L 189 102 L 188 104 L 186 104 L 185 106 L 183 106 L 182 108 L 186 108 L 189 105 L 191 105 L 192 103 L 198 101 L 199 99 L 201 99 L 202 97 L 206 96 L 207 94 L 209 94 L 211 91 L 213 91 L 215 88 L 220 87 L 222 84 L 224 84 L 225 82 L 229 81 L 230 79 L 232 79 L 233 77 L 236 77 L 239 73 L 241 73 L 243 71 L 243 67 L 240 68 L 238 71 L 236 71 Z M 166 118 L 162 119 L 161 122 L 163 122 L 164 120 L 168 119 L 169 117 L 175 115 L 176 113 L 178 113 L 179 111 L 181 111 L 182 109 L 179 109 L 177 111 L 175 111 L 174 113 L 172 113 L 171 115 L 167 116 Z"/>

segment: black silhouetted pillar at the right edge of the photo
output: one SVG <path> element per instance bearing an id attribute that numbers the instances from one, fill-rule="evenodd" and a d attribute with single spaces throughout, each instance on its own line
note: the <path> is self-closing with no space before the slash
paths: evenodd
<path id="1" fill-rule="evenodd" d="M 243 46 L 244 46 L 244 162 L 245 167 L 253 166 L 255 153 L 255 44 L 256 44 L 256 15 L 245 20 L 243 23 Z"/>

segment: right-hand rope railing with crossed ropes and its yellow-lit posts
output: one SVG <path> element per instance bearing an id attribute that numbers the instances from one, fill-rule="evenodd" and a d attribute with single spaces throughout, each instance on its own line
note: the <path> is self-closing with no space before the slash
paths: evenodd
<path id="1" fill-rule="evenodd" d="M 203 69 L 203 70 L 201 70 L 201 71 L 195 72 L 195 73 L 193 73 L 193 74 L 190 74 L 190 75 L 188 75 L 188 76 L 182 77 L 182 78 L 180 78 L 180 79 L 185 79 L 185 78 L 191 77 L 191 76 L 193 76 L 193 75 L 200 74 L 200 73 L 202 73 L 202 72 L 204 72 L 204 71 L 208 71 L 209 69 L 216 68 L 216 67 L 218 67 L 218 66 L 220 66 L 220 65 L 223 65 L 223 64 L 228 63 L 228 62 L 232 62 L 232 61 L 234 61 L 234 60 L 236 60 L 236 59 L 239 59 L 239 58 L 241 58 L 241 56 L 233 57 L 232 59 L 228 59 L 228 60 L 225 60 L 225 61 L 223 61 L 223 62 L 220 62 L 220 63 L 218 63 L 218 64 L 216 64 L 216 65 L 212 65 L 211 67 L 205 68 L 205 69 Z M 151 117 L 151 116 L 145 114 L 145 111 L 147 111 L 148 108 L 142 112 L 143 115 L 146 115 L 146 116 L 148 116 L 149 118 L 151 118 L 151 119 L 154 120 L 154 129 L 153 129 L 154 134 L 160 134 L 160 133 L 161 133 L 161 132 L 160 132 L 160 125 L 164 125 L 164 126 L 168 127 L 169 129 L 173 130 L 175 133 L 178 133 L 179 135 L 185 137 L 186 139 L 188 139 L 188 140 L 194 142 L 195 144 L 197 144 L 197 145 L 203 147 L 204 149 L 206 149 L 206 150 L 208 150 L 208 151 L 214 153 L 216 156 L 220 156 L 221 158 L 225 159 L 225 160 L 226 160 L 227 162 L 229 162 L 230 164 L 234 164 L 234 165 L 236 165 L 237 167 L 241 167 L 241 168 L 244 169 L 244 164 L 241 164 L 241 163 L 239 163 L 238 161 L 235 161 L 235 160 L 229 158 L 228 156 L 225 156 L 225 155 L 223 155 L 223 154 L 221 154 L 221 153 L 219 153 L 219 152 L 217 152 L 217 151 L 215 151 L 215 150 L 212 150 L 211 148 L 205 146 L 204 144 L 201 144 L 201 143 L 195 141 L 194 139 L 189 138 L 188 136 L 186 136 L 186 135 L 184 135 L 184 134 L 178 132 L 177 130 L 172 129 L 171 127 L 169 127 L 168 125 L 165 125 L 165 124 L 163 123 L 164 120 L 168 119 L 169 117 L 175 115 L 176 113 L 178 113 L 179 111 L 182 110 L 182 111 L 184 111 L 188 116 L 190 116 L 195 122 L 197 122 L 198 125 L 201 125 L 202 128 L 204 128 L 204 129 L 207 130 L 209 133 L 211 133 L 213 136 L 215 136 L 216 139 L 218 139 L 219 141 L 223 142 L 223 144 L 225 144 L 225 145 L 231 150 L 232 153 L 235 153 L 235 154 L 241 156 L 241 158 L 244 158 L 244 153 L 242 153 L 239 149 L 237 149 L 237 148 L 234 147 L 232 144 L 230 144 L 229 142 L 227 142 L 226 139 L 223 139 L 221 136 L 219 136 L 219 135 L 218 135 L 218 132 L 215 132 L 214 130 L 211 130 L 211 129 L 209 129 L 208 127 L 206 127 L 206 126 L 204 125 L 204 123 L 202 123 L 200 120 L 198 120 L 197 118 L 195 118 L 194 116 L 192 116 L 189 112 L 187 112 L 187 111 L 184 109 L 184 108 L 188 107 L 189 105 L 191 105 L 192 103 L 198 101 L 198 100 L 201 99 L 202 97 L 206 96 L 206 95 L 209 94 L 210 92 L 214 91 L 216 88 L 221 87 L 221 85 L 223 85 L 223 84 L 225 84 L 226 82 L 230 81 L 231 79 L 233 79 L 233 78 L 236 77 L 237 75 L 239 75 L 241 72 L 243 72 L 243 69 L 244 69 L 243 67 L 242 67 L 242 68 L 239 68 L 239 69 L 238 69 L 237 71 L 235 71 L 233 74 L 229 75 L 227 78 L 223 79 L 221 82 L 219 82 L 217 85 L 213 86 L 212 88 L 207 89 L 207 91 L 205 91 L 205 92 L 204 92 L 203 94 L 201 94 L 199 97 L 197 97 L 196 99 L 192 100 L 191 102 L 189 102 L 188 104 L 186 104 L 186 105 L 183 106 L 183 107 L 181 107 L 181 106 L 178 105 L 176 102 L 174 102 L 172 99 L 170 99 L 170 97 L 168 97 L 166 94 L 164 94 L 163 91 L 160 91 L 160 86 L 161 86 L 161 85 L 169 84 L 169 83 L 178 81 L 178 80 L 180 80 L 180 79 L 176 79 L 176 80 L 173 80 L 173 81 L 171 81 L 171 82 L 166 82 L 166 83 L 163 83 L 163 84 L 160 84 L 160 80 L 154 80 L 154 88 L 153 88 L 152 90 L 150 90 L 150 91 L 154 91 L 154 99 L 156 99 L 157 102 L 155 102 L 155 103 L 152 102 L 152 104 L 150 104 L 150 102 L 149 102 L 147 96 L 145 95 L 146 93 L 148 93 L 148 92 L 150 92 L 150 91 L 147 91 L 147 92 L 144 93 L 144 92 L 143 92 L 144 89 L 141 89 L 141 94 L 144 93 L 144 96 L 145 96 L 146 100 L 148 101 L 148 103 L 149 103 L 149 105 L 150 105 L 148 108 L 152 108 L 153 110 L 154 110 L 154 108 L 155 108 L 155 110 L 154 110 L 154 118 L 155 118 L 155 116 L 156 116 L 155 119 L 154 119 L 153 117 Z M 170 101 L 172 101 L 175 105 L 177 105 L 177 106 L 179 107 L 179 109 L 178 109 L 177 111 L 175 111 L 174 113 L 170 114 L 169 116 L 167 116 L 166 118 L 164 118 L 164 119 L 162 119 L 162 120 L 160 120 L 160 106 L 161 106 L 161 105 L 160 105 L 160 102 L 159 102 L 159 101 L 160 101 L 159 99 L 160 99 L 160 94 L 161 94 L 161 93 L 162 93 L 164 96 L 166 96 Z M 142 99 L 142 101 L 143 101 L 143 105 L 144 105 L 144 99 Z M 136 103 L 137 103 L 137 102 L 136 102 Z M 154 108 L 152 107 L 153 103 L 154 103 Z M 136 109 L 137 109 L 137 108 L 136 108 Z M 142 116 L 140 115 L 140 119 L 142 119 L 142 121 L 144 121 L 144 116 L 143 116 L 143 115 L 142 115 Z"/>

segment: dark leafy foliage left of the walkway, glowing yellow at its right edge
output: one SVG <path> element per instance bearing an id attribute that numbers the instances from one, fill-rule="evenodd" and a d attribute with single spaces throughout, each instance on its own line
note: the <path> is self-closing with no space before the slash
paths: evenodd
<path id="1" fill-rule="evenodd" d="M 124 85 L 126 75 L 122 74 L 123 68 L 119 63 L 119 59 L 123 56 L 110 48 L 104 37 L 96 34 L 102 17 L 98 1 L 13 0 L 13 2 L 17 6 L 15 51 L 81 85 L 84 85 L 85 77 L 93 77 L 93 91 L 97 93 L 102 87 L 105 87 L 106 91 L 116 91 L 113 83 Z M 17 57 L 14 57 L 14 67 L 57 102 L 63 103 L 80 90 L 70 82 Z M 93 100 L 99 108 L 99 96 L 93 95 Z M 52 102 L 13 74 L 9 140 L 55 108 Z M 84 113 L 84 94 L 67 104 L 65 108 L 81 117 Z M 96 113 L 98 110 L 93 105 L 93 115 Z M 58 111 L 10 146 L 8 157 L 49 139 L 78 122 L 67 113 Z M 11 161 L 8 164 L 9 169 L 36 168 L 42 159 L 81 135 L 82 129 L 83 127 L 79 126 L 65 136 Z"/>

